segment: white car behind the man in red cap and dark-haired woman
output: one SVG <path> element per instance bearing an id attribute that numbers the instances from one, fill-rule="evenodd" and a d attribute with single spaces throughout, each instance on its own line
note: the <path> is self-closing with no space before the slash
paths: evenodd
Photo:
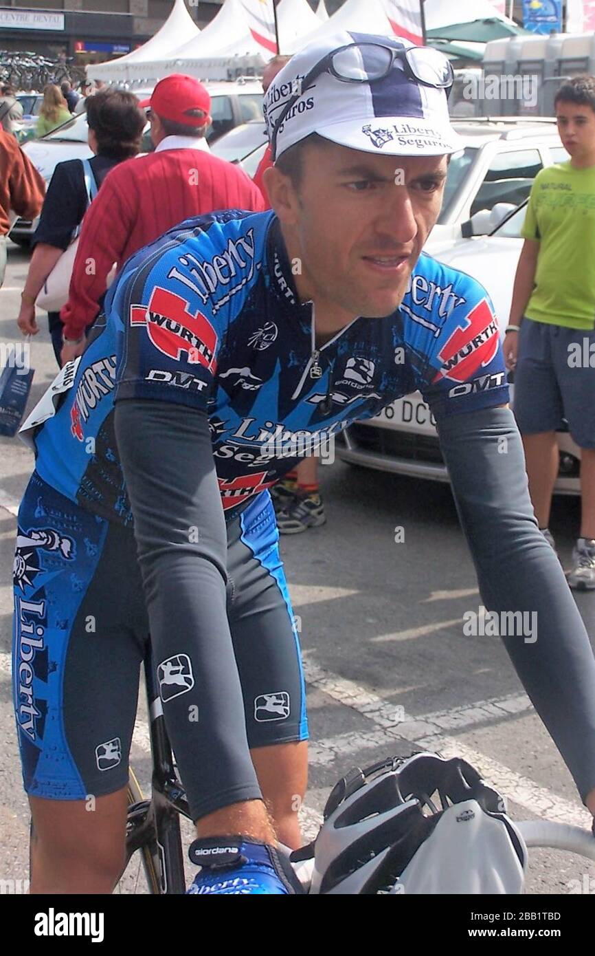
<path id="1" fill-rule="evenodd" d="M 238 125 L 252 121 L 264 122 L 263 119 L 263 87 L 259 81 L 248 82 L 218 82 L 204 84 L 211 95 L 211 116 L 213 122 L 206 133 L 209 145 L 216 143 L 220 137 L 233 130 Z M 151 90 L 131 91 L 139 99 L 149 98 Z M 148 137 L 149 125 L 144 131 Z M 74 116 L 61 126 L 57 126 L 39 140 L 31 140 L 23 145 L 35 168 L 50 183 L 53 170 L 58 163 L 66 160 L 85 160 L 93 156 L 87 142 L 88 126 L 84 113 Z M 144 149 L 151 148 L 150 141 L 145 140 Z M 17 219 L 11 229 L 11 239 L 20 246 L 28 246 L 32 234 L 37 228 L 38 219 Z"/>

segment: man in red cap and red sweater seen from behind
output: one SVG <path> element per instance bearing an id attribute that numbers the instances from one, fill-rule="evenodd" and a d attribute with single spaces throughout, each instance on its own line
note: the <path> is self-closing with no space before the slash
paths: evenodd
<path id="1" fill-rule="evenodd" d="M 161 79 L 150 99 L 155 152 L 120 163 L 103 181 L 85 214 L 74 260 L 64 323 L 62 363 L 81 355 L 114 263 L 191 216 L 215 209 L 260 212 L 262 195 L 242 169 L 211 156 L 204 134 L 211 98 L 197 79 Z"/>

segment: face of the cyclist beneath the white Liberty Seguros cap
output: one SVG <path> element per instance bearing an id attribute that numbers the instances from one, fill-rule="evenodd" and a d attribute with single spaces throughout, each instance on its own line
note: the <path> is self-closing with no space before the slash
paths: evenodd
<path id="1" fill-rule="evenodd" d="M 446 171 L 444 156 L 376 156 L 329 142 L 309 145 L 291 211 L 277 210 L 299 250 L 292 256 L 302 259 L 300 295 L 350 321 L 390 315 L 436 223 Z"/>

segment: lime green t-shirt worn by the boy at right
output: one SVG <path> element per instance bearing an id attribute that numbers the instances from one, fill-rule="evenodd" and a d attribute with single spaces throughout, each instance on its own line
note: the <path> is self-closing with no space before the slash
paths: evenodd
<path id="1" fill-rule="evenodd" d="M 548 166 L 535 178 L 522 228 L 539 239 L 527 318 L 569 329 L 595 325 L 595 166 Z"/>

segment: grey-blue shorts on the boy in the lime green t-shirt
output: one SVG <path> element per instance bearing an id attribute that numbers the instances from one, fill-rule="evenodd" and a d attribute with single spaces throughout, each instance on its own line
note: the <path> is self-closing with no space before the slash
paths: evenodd
<path id="1" fill-rule="evenodd" d="M 521 435 L 558 431 L 595 448 L 595 331 L 523 318 L 514 411 Z"/>

